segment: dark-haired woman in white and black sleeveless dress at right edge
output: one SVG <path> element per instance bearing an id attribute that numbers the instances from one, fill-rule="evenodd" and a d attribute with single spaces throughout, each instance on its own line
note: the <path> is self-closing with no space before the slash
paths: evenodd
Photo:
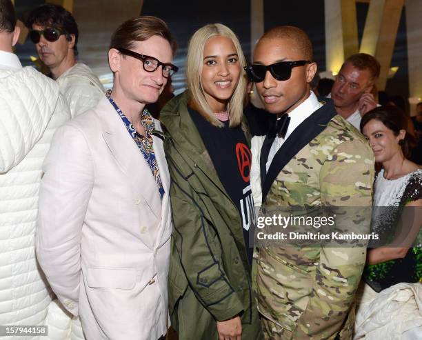
<path id="1" fill-rule="evenodd" d="M 393 106 L 365 114 L 361 131 L 382 165 L 372 212 L 380 241 L 368 249 L 356 294 L 354 339 L 422 339 L 422 169 L 406 158 L 413 137 Z"/>

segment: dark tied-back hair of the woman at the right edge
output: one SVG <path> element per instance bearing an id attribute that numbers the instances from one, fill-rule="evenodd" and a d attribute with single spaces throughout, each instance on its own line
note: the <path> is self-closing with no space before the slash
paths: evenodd
<path id="1" fill-rule="evenodd" d="M 412 134 L 408 132 L 408 118 L 405 116 L 404 112 L 392 105 L 374 108 L 374 110 L 370 110 L 370 112 L 362 117 L 361 131 L 363 131 L 363 127 L 372 119 L 381 121 L 387 128 L 392 130 L 394 136 L 398 136 L 400 130 L 405 130 L 406 134 L 403 141 L 400 142 L 400 146 L 404 156 L 406 158 L 410 157 L 410 150 L 416 146 L 416 140 Z"/>

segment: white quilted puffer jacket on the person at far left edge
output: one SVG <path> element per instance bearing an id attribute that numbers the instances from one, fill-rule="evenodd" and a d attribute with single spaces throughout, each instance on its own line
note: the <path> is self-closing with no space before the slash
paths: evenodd
<path id="1" fill-rule="evenodd" d="M 54 310 L 34 251 L 41 165 L 54 130 L 69 119 L 57 83 L 33 68 L 0 71 L 0 325 L 54 330 L 70 321 Z M 26 339 L 70 339 L 52 335 Z"/>

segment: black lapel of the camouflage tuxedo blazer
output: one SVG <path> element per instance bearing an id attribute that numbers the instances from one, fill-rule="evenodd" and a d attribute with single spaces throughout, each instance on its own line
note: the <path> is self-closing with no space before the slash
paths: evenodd
<path id="1" fill-rule="evenodd" d="M 324 98 L 323 101 L 326 102 L 325 105 L 312 113 L 310 117 L 305 119 L 296 129 L 294 129 L 292 134 L 290 134 L 288 139 L 283 143 L 281 148 L 279 148 L 279 151 L 277 151 L 275 154 L 271 166 L 265 175 L 265 180 L 263 181 L 262 202 L 265 201 L 272 183 L 277 178 L 281 170 L 283 170 L 285 165 L 290 161 L 290 159 L 292 159 L 300 150 L 303 149 L 303 147 L 312 141 L 312 139 L 323 132 L 328 122 L 336 115 L 336 110 L 334 109 L 332 100 Z M 266 140 L 267 139 L 265 138 L 265 141 Z M 269 150 L 270 149 L 268 149 L 268 152 Z M 264 149 L 261 151 L 261 162 L 263 161 L 263 151 Z M 268 159 L 268 152 L 266 159 Z M 261 163 L 261 172 L 262 168 L 263 171 L 265 171 L 265 164 Z"/>

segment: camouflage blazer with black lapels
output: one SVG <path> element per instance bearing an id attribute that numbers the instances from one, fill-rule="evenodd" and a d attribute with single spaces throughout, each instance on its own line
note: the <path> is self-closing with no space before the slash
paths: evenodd
<path id="1" fill-rule="evenodd" d="M 364 206 L 369 215 L 359 224 L 369 230 L 372 150 L 360 132 L 336 115 L 330 99 L 323 104 L 283 143 L 267 173 L 272 141 L 263 142 L 261 210 Z M 281 247 L 258 251 L 259 312 L 282 333 L 288 330 L 291 339 L 334 339 L 346 317 L 353 319 L 349 311 L 365 264 L 365 248 Z"/>

